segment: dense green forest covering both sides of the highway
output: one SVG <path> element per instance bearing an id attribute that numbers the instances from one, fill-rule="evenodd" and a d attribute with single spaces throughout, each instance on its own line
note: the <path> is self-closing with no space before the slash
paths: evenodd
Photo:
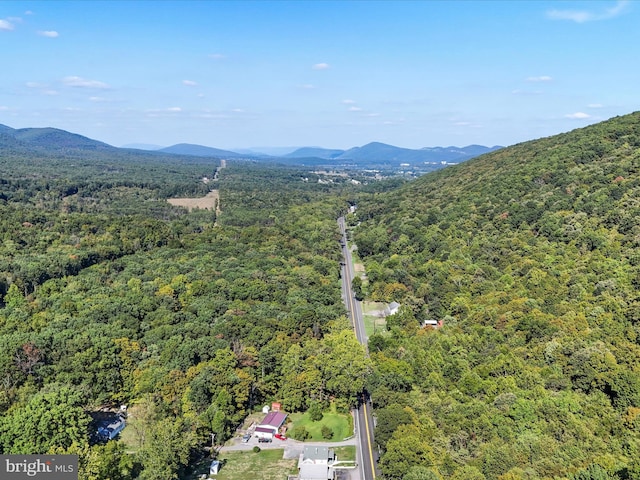
<path id="1" fill-rule="evenodd" d="M 7 145 L 0 452 L 167 480 L 263 402 L 366 387 L 388 480 L 640 478 L 640 114 L 369 186 Z M 166 202 L 211 188 L 220 215 Z M 402 305 L 369 358 L 340 297 L 356 202 L 362 293 Z M 121 404 L 135 444 L 92 442 Z"/>

